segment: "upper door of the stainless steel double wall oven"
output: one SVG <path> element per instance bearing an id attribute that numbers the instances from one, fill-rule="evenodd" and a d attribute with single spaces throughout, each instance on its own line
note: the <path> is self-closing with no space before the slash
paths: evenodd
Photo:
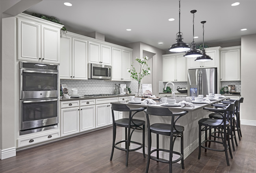
<path id="1" fill-rule="evenodd" d="M 20 69 L 20 99 L 58 97 L 58 72 Z"/>

